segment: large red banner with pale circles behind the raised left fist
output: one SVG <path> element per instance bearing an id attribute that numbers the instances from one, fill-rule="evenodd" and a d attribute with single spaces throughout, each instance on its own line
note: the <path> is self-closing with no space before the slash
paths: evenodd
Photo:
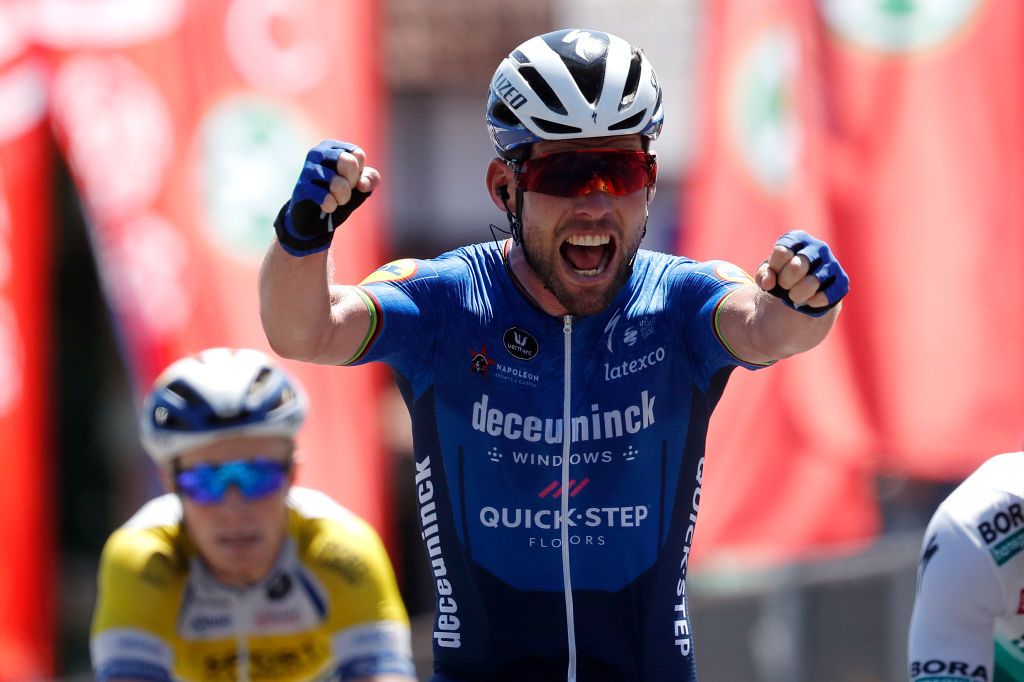
<path id="1" fill-rule="evenodd" d="M 385 157 L 376 3 L 57 4 L 41 29 L 55 128 L 137 385 L 204 347 L 268 350 L 257 271 L 306 150 L 340 137 Z M 385 203 L 336 240 L 340 281 L 380 263 Z M 285 365 L 312 406 L 299 482 L 386 530 L 380 371 Z"/>

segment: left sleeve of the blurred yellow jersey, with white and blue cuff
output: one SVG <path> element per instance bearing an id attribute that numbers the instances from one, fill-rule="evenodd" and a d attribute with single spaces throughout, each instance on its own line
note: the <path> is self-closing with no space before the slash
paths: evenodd
<path id="1" fill-rule="evenodd" d="M 153 531 L 121 528 L 103 548 L 89 650 L 96 680 L 171 680 L 182 580 Z"/>

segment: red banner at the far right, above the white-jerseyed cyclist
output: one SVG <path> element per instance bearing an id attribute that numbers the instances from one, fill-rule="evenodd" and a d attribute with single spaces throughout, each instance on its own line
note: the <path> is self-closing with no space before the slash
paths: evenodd
<path id="1" fill-rule="evenodd" d="M 1024 435 L 1024 4 L 817 4 L 880 466 L 958 479 Z"/>

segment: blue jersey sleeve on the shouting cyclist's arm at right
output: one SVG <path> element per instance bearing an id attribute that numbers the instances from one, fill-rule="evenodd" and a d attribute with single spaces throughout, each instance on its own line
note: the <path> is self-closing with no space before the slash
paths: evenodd
<path id="1" fill-rule="evenodd" d="M 723 260 L 685 261 L 677 265 L 672 291 L 676 328 L 697 369 L 701 388 L 722 368 L 757 370 L 766 365 L 748 363 L 732 352 L 719 332 L 722 304 L 741 287 L 754 285 L 742 268 Z"/>

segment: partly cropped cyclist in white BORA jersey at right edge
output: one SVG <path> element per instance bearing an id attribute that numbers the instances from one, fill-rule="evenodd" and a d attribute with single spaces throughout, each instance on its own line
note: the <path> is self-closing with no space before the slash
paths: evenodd
<path id="1" fill-rule="evenodd" d="M 997 455 L 939 505 L 910 622 L 912 682 L 1024 680 L 1024 453 Z"/>

